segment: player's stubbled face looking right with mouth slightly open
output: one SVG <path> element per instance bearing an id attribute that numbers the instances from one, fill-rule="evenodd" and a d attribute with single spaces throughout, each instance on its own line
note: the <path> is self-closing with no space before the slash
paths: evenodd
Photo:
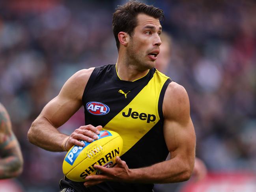
<path id="1" fill-rule="evenodd" d="M 137 65 L 139 70 L 151 69 L 155 66 L 161 40 L 162 26 L 159 19 L 145 14 L 138 14 L 137 26 L 127 44 L 129 62 Z"/>

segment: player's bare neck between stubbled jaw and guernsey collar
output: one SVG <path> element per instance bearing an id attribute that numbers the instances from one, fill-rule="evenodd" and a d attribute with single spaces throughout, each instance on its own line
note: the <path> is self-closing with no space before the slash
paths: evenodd
<path id="1" fill-rule="evenodd" d="M 121 80 L 125 81 L 135 81 L 147 75 L 149 71 L 149 69 L 138 69 L 138 65 L 136 65 L 135 63 L 131 63 L 125 60 L 125 57 L 120 56 L 118 56 L 118 60 L 116 62 L 116 69 L 118 72 L 118 76 L 121 78 Z"/>

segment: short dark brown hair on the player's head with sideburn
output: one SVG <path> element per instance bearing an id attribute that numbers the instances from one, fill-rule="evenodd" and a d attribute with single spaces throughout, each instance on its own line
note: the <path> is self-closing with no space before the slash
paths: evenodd
<path id="1" fill-rule="evenodd" d="M 154 6 L 148 6 L 136 0 L 129 0 L 126 4 L 118 6 L 113 14 L 112 29 L 116 39 L 116 47 L 119 50 L 120 42 L 118 39 L 119 32 L 126 32 L 130 36 L 133 35 L 133 30 L 137 26 L 136 16 L 139 13 L 144 13 L 155 19 L 162 20 L 164 12 Z"/>

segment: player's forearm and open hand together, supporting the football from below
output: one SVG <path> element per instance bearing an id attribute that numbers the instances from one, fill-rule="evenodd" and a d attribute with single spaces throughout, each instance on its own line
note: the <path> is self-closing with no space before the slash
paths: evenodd
<path id="1" fill-rule="evenodd" d="M 116 157 L 116 166 L 105 168 L 94 165 L 104 174 L 89 175 L 84 186 L 92 186 L 104 181 L 122 181 L 125 183 L 174 183 L 187 181 L 192 174 L 194 158 L 174 157 L 149 167 L 129 169 L 126 162 Z"/>

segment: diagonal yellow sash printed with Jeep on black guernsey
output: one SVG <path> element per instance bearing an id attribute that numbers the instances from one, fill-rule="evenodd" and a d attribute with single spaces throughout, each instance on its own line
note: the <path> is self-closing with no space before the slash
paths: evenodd
<path id="1" fill-rule="evenodd" d="M 118 132 L 123 138 L 122 155 L 160 120 L 158 114 L 159 95 L 167 79 L 167 76 L 156 70 L 151 80 L 138 95 L 103 127 L 106 130 Z"/>

